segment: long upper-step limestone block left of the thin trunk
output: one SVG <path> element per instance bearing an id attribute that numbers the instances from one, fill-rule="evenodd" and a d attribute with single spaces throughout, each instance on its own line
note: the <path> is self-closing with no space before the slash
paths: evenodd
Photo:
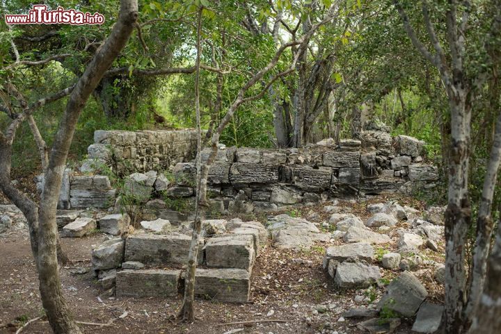
<path id="1" fill-rule="evenodd" d="M 133 234 L 125 242 L 125 261 L 144 264 L 187 264 L 191 237 L 186 234 Z M 199 246 L 198 262 L 202 263 Z"/>

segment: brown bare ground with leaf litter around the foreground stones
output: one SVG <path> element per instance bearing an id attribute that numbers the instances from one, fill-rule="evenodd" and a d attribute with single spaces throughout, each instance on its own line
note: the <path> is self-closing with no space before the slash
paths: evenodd
<path id="1" fill-rule="evenodd" d="M 377 198 L 369 202 L 381 202 Z M 421 209 L 420 203 L 401 198 Z M 353 213 L 364 218 L 365 203 L 351 203 Z M 310 210 L 323 214 L 320 207 L 300 209 L 296 214 L 307 216 Z M 82 325 L 85 333 L 225 333 L 234 328 L 243 328 L 239 333 L 364 333 L 356 328 L 360 320 L 339 321 L 344 310 L 367 305 L 367 299 L 381 295 L 384 287 L 374 291 L 340 290 L 331 285 L 321 269 L 321 259 L 326 246 L 317 244 L 310 250 L 283 251 L 268 246 L 253 269 L 252 302 L 243 305 L 196 301 L 197 321 L 186 324 L 175 320 L 182 296 L 176 299 L 129 299 L 97 297 L 102 292 L 90 272 L 74 273 L 78 268 L 90 268 L 90 250 L 104 241 L 103 234 L 96 233 L 81 239 L 62 239 L 63 248 L 73 263 L 61 268 L 61 280 L 65 297 L 77 321 L 108 324 L 110 326 Z M 376 248 L 376 247 L 375 247 Z M 391 249 L 392 245 L 388 245 Z M 296 260 L 294 260 L 296 259 Z M 311 262 L 301 263 L 297 259 Z M 438 257 L 440 260 L 440 257 Z M 0 237 L 0 333 L 15 333 L 27 320 L 43 315 L 38 292 L 29 239 L 24 231 L 10 232 Z M 385 278 L 392 278 L 397 271 L 384 271 Z M 440 300 L 442 291 L 424 267 L 417 276 L 431 294 L 431 299 Z M 363 303 L 355 303 L 357 295 L 366 296 Z M 319 305 L 327 312 L 318 313 Z M 273 310 L 273 315 L 269 315 Z M 120 315 L 125 317 L 120 318 Z M 224 325 L 237 321 L 278 319 L 287 322 L 253 322 L 250 324 Z M 411 321 L 402 319 L 396 333 L 410 333 Z M 23 333 L 51 333 L 45 319 L 33 321 Z"/>

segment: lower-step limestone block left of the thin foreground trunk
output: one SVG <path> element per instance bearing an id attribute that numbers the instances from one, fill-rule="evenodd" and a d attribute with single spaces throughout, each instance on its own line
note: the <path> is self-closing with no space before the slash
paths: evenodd
<path id="1" fill-rule="evenodd" d="M 117 273 L 116 294 L 136 298 L 177 296 L 180 276 L 180 270 L 125 269 Z"/>

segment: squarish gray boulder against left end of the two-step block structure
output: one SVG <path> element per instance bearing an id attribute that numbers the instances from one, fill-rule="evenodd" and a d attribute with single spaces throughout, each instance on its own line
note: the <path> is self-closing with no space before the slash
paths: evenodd
<path id="1" fill-rule="evenodd" d="M 96 248 L 93 248 L 92 268 L 96 270 L 113 269 L 120 267 L 123 262 L 125 241 L 122 239 L 111 239 L 104 241 Z"/>

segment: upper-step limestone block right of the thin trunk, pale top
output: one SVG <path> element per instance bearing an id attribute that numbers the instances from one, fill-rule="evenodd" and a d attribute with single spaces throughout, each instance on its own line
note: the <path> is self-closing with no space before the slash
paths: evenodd
<path id="1" fill-rule="evenodd" d="M 254 238 L 249 234 L 213 237 L 205 244 L 205 258 L 207 267 L 250 271 L 255 259 Z"/>

